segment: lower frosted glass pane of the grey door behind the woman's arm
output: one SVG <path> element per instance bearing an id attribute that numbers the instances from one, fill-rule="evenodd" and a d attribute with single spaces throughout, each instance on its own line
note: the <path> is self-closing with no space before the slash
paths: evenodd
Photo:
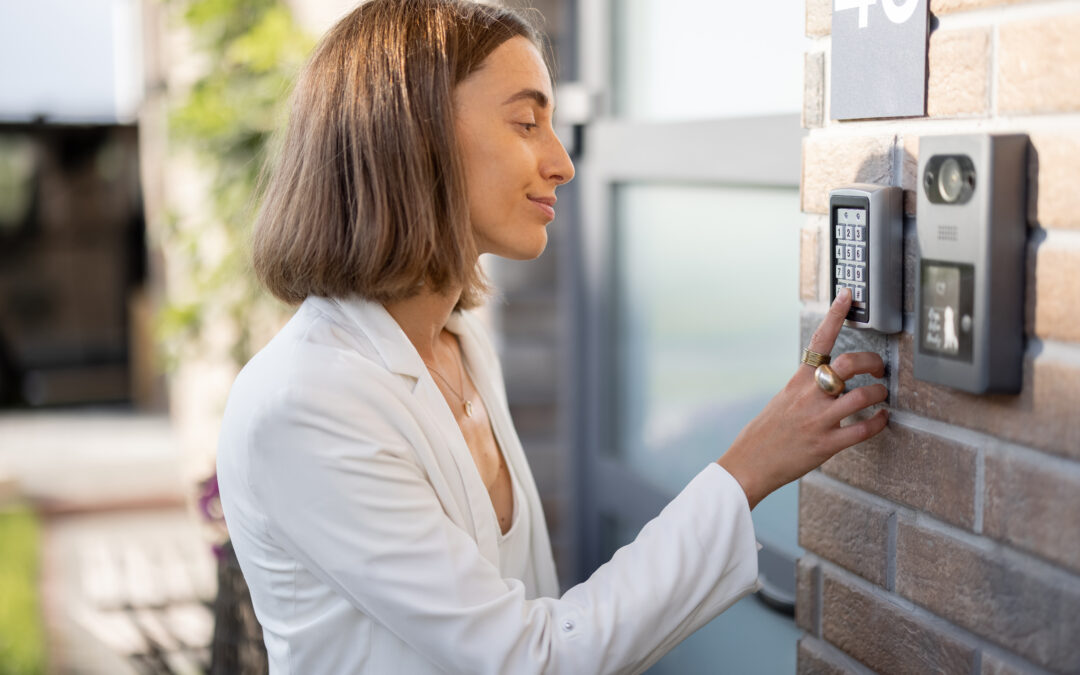
<path id="1" fill-rule="evenodd" d="M 618 453 L 674 495 L 795 373 L 798 190 L 625 185 L 616 207 Z"/>

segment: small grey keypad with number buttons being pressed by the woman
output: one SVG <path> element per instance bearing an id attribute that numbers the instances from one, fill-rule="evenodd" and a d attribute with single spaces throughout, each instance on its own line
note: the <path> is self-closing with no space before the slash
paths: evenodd
<path id="1" fill-rule="evenodd" d="M 829 292 L 851 289 L 847 325 L 899 333 L 904 273 L 903 190 L 856 184 L 828 193 Z"/>

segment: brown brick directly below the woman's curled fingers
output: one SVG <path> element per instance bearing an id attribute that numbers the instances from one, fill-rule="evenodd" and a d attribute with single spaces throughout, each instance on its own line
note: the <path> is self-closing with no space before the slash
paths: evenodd
<path id="1" fill-rule="evenodd" d="M 825 462 L 825 475 L 971 529 L 975 448 L 889 422 L 869 441 Z"/>

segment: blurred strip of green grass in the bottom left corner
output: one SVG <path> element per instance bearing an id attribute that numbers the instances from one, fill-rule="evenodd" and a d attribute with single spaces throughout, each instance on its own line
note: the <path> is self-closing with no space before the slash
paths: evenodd
<path id="1" fill-rule="evenodd" d="M 45 670 L 38 542 L 32 512 L 0 511 L 0 675 L 37 675 Z"/>

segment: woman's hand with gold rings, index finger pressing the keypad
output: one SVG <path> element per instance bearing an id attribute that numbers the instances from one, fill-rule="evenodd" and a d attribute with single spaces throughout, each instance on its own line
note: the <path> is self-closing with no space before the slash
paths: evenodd
<path id="1" fill-rule="evenodd" d="M 851 292 L 841 291 L 810 339 L 811 351 L 833 351 L 850 307 Z M 873 352 L 840 354 L 829 365 L 843 380 L 864 373 L 885 377 L 885 363 Z M 746 424 L 717 463 L 742 485 L 753 509 L 772 490 L 885 429 L 889 413 L 883 409 L 846 427 L 840 420 L 881 403 L 888 394 L 883 384 L 869 384 L 831 396 L 814 381 L 814 368 L 799 364 L 795 377 Z"/>

